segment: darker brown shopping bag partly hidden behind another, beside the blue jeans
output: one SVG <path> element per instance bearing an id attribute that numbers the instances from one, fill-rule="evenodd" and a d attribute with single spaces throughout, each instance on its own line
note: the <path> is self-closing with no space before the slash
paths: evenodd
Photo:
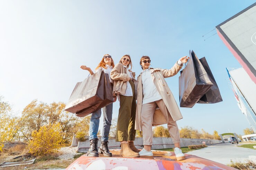
<path id="1" fill-rule="evenodd" d="M 104 74 L 104 99 L 100 101 L 97 104 L 94 104 L 93 106 L 90 106 L 88 108 L 84 108 L 78 112 L 76 112 L 76 116 L 78 117 L 85 117 L 88 114 L 91 114 L 105 106 L 107 106 L 110 103 L 113 103 L 113 93 L 112 93 L 112 87 L 109 80 L 109 74 Z"/>

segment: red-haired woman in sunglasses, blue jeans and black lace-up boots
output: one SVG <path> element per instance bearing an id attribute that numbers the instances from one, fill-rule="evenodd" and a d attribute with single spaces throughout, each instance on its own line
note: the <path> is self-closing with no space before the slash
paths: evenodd
<path id="1" fill-rule="evenodd" d="M 99 69 L 102 69 L 105 73 L 109 74 L 109 79 L 111 86 L 113 87 L 113 80 L 110 78 L 110 72 L 115 67 L 114 61 L 109 54 L 103 56 L 101 62 L 99 63 L 98 67 L 95 69 L 96 72 Z M 83 70 L 88 70 L 90 74 L 93 74 L 91 68 L 86 66 L 80 67 Z M 114 102 L 117 100 L 116 96 L 113 96 Z M 102 128 L 102 136 L 101 136 L 101 146 L 98 151 L 98 137 L 97 133 L 99 130 L 99 123 L 100 123 L 100 116 L 101 116 L 101 109 L 95 111 L 91 115 L 90 121 L 90 149 L 88 150 L 86 156 L 89 157 L 99 157 L 99 153 L 102 153 L 104 156 L 112 157 L 112 153 L 108 149 L 108 138 L 109 138 L 109 131 L 112 121 L 112 110 L 113 110 L 113 103 L 107 105 L 106 107 L 102 108 L 103 110 L 103 128 Z"/>

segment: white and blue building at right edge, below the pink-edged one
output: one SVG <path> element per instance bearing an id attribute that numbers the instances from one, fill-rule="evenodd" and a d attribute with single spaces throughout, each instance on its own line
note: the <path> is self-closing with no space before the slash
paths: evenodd
<path id="1" fill-rule="evenodd" d="M 256 133 L 256 84 L 243 68 L 227 68 L 238 107 Z"/>

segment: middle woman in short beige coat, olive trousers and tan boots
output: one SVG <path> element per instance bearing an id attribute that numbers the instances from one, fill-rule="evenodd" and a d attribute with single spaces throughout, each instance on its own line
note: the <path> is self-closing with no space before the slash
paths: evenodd
<path id="1" fill-rule="evenodd" d="M 139 157 L 138 150 L 134 146 L 135 140 L 135 116 L 136 116 L 136 89 L 135 73 L 128 70 L 131 66 L 131 58 L 124 55 L 110 73 L 114 80 L 113 95 L 120 101 L 117 119 L 116 141 L 121 143 L 120 156 Z M 131 66 L 132 68 L 132 66 Z"/>

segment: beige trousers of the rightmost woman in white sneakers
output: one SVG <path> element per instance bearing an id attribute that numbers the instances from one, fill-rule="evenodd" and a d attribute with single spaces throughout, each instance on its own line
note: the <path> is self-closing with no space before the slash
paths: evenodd
<path id="1" fill-rule="evenodd" d="M 152 146 L 153 132 L 152 123 L 153 115 L 157 106 L 160 108 L 167 120 L 167 127 L 173 143 L 180 143 L 180 132 L 176 121 L 173 120 L 171 114 L 166 108 L 163 99 L 154 102 L 146 103 L 141 108 L 141 122 L 142 122 L 142 133 L 143 133 L 143 144 Z"/>

